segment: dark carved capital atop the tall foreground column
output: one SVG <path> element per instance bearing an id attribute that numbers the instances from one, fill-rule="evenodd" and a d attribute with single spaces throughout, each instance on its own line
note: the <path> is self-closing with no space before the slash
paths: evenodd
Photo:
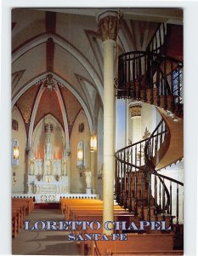
<path id="1" fill-rule="evenodd" d="M 118 32 L 118 14 L 117 12 L 107 11 L 99 15 L 98 18 L 99 33 L 102 40 L 111 39 L 116 41 Z"/>

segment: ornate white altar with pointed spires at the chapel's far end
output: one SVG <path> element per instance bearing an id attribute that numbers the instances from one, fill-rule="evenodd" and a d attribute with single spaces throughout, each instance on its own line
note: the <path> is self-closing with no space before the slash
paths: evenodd
<path id="1" fill-rule="evenodd" d="M 67 160 L 65 151 L 61 159 L 54 158 L 51 124 L 47 126 L 44 159 L 35 158 L 33 147 L 29 154 L 28 194 L 68 193 Z"/>

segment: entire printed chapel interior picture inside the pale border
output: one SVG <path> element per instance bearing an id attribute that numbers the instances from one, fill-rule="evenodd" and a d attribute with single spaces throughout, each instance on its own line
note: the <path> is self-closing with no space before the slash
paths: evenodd
<path id="1" fill-rule="evenodd" d="M 183 9 L 11 21 L 12 252 L 183 255 Z"/>

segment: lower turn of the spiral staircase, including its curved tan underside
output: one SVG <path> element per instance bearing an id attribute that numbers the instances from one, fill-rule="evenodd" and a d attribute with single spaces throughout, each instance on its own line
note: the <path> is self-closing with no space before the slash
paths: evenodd
<path id="1" fill-rule="evenodd" d="M 183 143 L 178 144 L 176 134 L 176 130 L 183 131 L 183 119 L 169 120 L 172 119 L 169 112 L 158 110 L 162 119 L 150 137 L 115 154 L 115 199 L 135 218 L 165 220 L 178 234 L 183 212 L 179 210 L 179 201 L 183 201 L 184 183 L 156 172 L 155 162 L 159 159 L 157 166 L 164 167 L 183 156 Z M 179 138 L 183 140 L 183 134 L 180 133 Z M 170 155 L 172 150 L 175 152 Z"/>

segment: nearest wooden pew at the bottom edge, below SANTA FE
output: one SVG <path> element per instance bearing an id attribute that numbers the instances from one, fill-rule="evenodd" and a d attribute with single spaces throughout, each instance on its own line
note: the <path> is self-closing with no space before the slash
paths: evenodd
<path id="1" fill-rule="evenodd" d="M 108 236 L 108 238 L 111 239 L 111 236 Z M 125 255 L 125 254 L 141 255 L 140 253 L 142 253 L 142 255 L 155 255 L 154 253 L 157 253 L 157 252 L 163 252 L 163 253 L 173 252 L 173 233 L 170 233 L 170 234 L 128 233 L 127 241 L 120 241 L 120 240 L 90 241 L 88 245 L 88 255 L 92 255 L 92 256 L 93 255 Z"/>

